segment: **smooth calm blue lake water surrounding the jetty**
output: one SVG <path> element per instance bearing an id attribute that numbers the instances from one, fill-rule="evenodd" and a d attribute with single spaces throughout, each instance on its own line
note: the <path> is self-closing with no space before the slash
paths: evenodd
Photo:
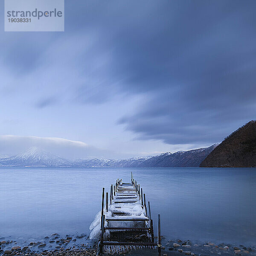
<path id="1" fill-rule="evenodd" d="M 89 234 L 102 187 L 131 171 L 166 238 L 256 245 L 255 168 L 0 168 L 0 237 Z"/>

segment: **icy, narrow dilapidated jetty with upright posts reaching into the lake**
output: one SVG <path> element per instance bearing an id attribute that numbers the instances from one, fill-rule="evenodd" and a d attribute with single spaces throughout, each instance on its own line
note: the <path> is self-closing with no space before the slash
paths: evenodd
<path id="1" fill-rule="evenodd" d="M 104 199 L 106 198 L 106 199 Z M 125 249 L 157 248 L 161 255 L 160 214 L 158 214 L 157 242 L 154 241 L 150 202 L 140 184 L 117 179 L 110 186 L 110 194 L 102 189 L 99 254 L 125 252 Z M 135 240 L 135 241 L 134 241 Z"/>

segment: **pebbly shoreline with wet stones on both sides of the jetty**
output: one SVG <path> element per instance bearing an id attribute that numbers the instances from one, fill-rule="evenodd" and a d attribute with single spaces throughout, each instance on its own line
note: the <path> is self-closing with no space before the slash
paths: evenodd
<path id="1" fill-rule="evenodd" d="M 30 239 L 31 240 L 31 239 Z M 42 241 L 44 240 L 44 241 Z M 84 234 L 61 237 L 57 233 L 46 236 L 41 241 L 17 241 L 0 239 L 0 256 L 96 256 L 97 241 L 89 239 Z M 161 255 L 191 255 L 191 256 L 256 256 L 256 247 L 246 247 L 243 244 L 214 244 L 212 242 L 195 244 L 190 240 L 180 239 L 168 240 L 162 238 Z M 157 250 L 151 249 L 129 249 L 120 254 L 131 254 L 134 256 L 157 255 Z"/>

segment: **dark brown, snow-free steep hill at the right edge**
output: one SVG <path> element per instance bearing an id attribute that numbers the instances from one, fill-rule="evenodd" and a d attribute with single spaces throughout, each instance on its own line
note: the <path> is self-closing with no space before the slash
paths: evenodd
<path id="1" fill-rule="evenodd" d="M 243 125 L 218 145 L 201 167 L 256 167 L 256 121 Z"/>

